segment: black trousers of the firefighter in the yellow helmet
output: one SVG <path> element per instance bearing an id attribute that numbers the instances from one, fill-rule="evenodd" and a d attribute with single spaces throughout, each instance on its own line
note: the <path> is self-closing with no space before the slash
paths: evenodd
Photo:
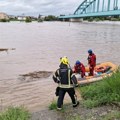
<path id="1" fill-rule="evenodd" d="M 64 96 L 65 96 L 66 92 L 69 94 L 69 96 L 70 96 L 70 98 L 72 100 L 72 103 L 73 104 L 77 103 L 77 100 L 75 98 L 75 90 L 74 90 L 74 88 L 60 88 L 59 89 L 58 101 L 57 101 L 57 107 L 58 108 L 62 107 Z"/>

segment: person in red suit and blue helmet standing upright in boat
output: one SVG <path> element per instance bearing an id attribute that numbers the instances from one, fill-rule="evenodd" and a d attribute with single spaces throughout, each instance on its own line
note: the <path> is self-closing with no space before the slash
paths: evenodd
<path id="1" fill-rule="evenodd" d="M 89 65 L 89 76 L 94 76 L 94 68 L 96 66 L 96 55 L 91 49 L 88 50 L 88 65 Z"/>

